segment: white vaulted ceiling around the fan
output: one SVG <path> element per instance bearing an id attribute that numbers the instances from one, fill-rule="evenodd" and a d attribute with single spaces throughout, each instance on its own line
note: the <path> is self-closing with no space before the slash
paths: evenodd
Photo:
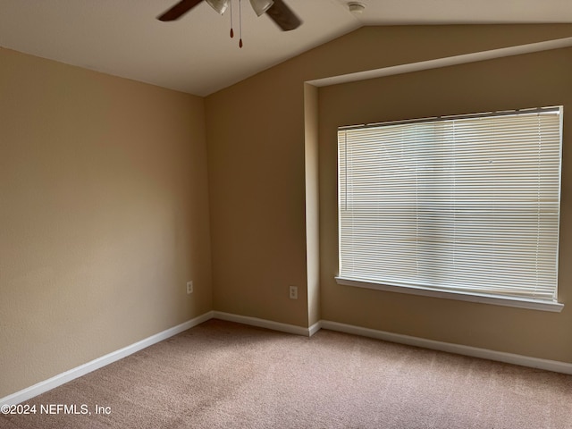
<path id="1" fill-rule="evenodd" d="M 0 0 L 0 46 L 206 96 L 364 25 L 572 22 L 572 0 L 285 0 L 302 19 L 283 32 L 242 1 L 231 17 L 205 2 L 181 20 L 156 16 L 178 0 Z M 1 66 L 1 64 L 0 64 Z"/>

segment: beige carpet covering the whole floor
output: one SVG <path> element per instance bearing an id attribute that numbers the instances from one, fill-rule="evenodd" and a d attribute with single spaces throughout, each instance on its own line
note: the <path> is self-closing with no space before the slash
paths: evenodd
<path id="1" fill-rule="evenodd" d="M 572 376 L 211 320 L 27 404 L 0 427 L 566 429 Z M 91 415 L 40 413 L 57 404 Z"/>

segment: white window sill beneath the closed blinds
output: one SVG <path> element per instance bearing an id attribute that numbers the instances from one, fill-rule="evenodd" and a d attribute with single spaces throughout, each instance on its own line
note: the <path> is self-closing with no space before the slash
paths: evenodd
<path id="1" fill-rule="evenodd" d="M 460 301 L 478 302 L 481 304 L 492 304 L 495 306 L 528 308 L 533 310 L 551 311 L 559 313 L 564 308 L 564 304 L 552 301 L 540 301 L 534 299 L 522 299 L 513 297 L 495 297 L 492 295 L 470 294 L 458 291 L 444 291 L 424 289 L 414 286 L 391 286 L 389 284 L 363 282 L 342 277 L 336 277 L 336 282 L 345 286 L 355 286 L 357 288 L 386 290 L 389 292 L 407 293 L 409 295 L 420 295 L 423 297 L 457 299 Z"/>

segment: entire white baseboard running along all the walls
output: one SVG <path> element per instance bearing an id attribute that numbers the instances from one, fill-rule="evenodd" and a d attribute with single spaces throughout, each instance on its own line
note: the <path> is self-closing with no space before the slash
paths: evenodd
<path id="1" fill-rule="evenodd" d="M 330 322 L 327 320 L 320 320 L 315 324 L 304 328 L 302 326 L 296 326 L 293 324 L 282 324 L 279 322 L 273 322 L 271 320 L 259 319 L 257 317 L 249 317 L 246 315 L 232 315 L 230 313 L 223 313 L 221 311 L 209 311 L 204 315 L 199 315 L 194 319 L 191 319 L 183 324 L 178 324 L 173 326 L 163 332 L 156 333 L 145 340 L 138 341 L 130 346 L 124 347 L 123 349 L 115 350 L 105 356 L 98 357 L 97 359 L 88 362 L 87 364 L 77 366 L 69 371 L 62 374 L 57 374 L 54 377 L 45 380 L 43 382 L 34 384 L 26 389 L 17 391 L 12 395 L 0 398 L 0 407 L 4 404 L 13 405 L 19 404 L 25 400 L 29 400 L 41 393 L 50 391 L 55 387 L 61 386 L 64 383 L 71 382 L 82 375 L 88 374 L 96 369 L 103 366 L 109 365 L 123 357 L 128 357 L 129 355 L 139 351 L 140 349 L 145 349 L 157 342 L 164 341 L 167 338 L 176 335 L 177 333 L 186 331 L 193 326 L 202 324 L 210 319 L 221 319 L 229 322 L 236 322 L 239 324 L 248 324 L 251 326 L 257 326 L 260 328 L 272 329 L 273 331 L 288 332 L 296 335 L 303 335 L 311 337 L 318 332 L 320 329 L 329 329 L 331 331 L 346 332 L 354 335 L 360 335 L 364 337 L 374 338 L 377 340 L 397 342 L 400 344 L 407 344 L 409 346 L 422 347 L 425 349 L 434 349 L 440 351 L 446 351 L 449 353 L 456 353 L 458 355 L 470 356 L 470 357 L 480 357 L 484 359 L 496 360 L 499 362 L 505 362 L 509 364 L 519 365 L 519 366 L 529 366 L 533 368 L 539 368 L 546 371 L 553 371 L 562 374 L 572 374 L 572 364 L 566 362 L 559 362 L 555 360 L 540 359 L 537 357 L 526 357 L 522 355 L 515 355 L 512 353 L 505 353 L 501 351 L 494 351 L 489 349 L 479 349 L 470 346 L 463 346 L 460 344 L 452 344 L 449 342 L 425 340 L 424 338 L 411 337 L 408 335 L 401 335 L 398 333 L 377 331 L 369 328 L 362 328 L 360 326 L 355 326 L 351 324 L 340 324 L 338 322 Z"/>

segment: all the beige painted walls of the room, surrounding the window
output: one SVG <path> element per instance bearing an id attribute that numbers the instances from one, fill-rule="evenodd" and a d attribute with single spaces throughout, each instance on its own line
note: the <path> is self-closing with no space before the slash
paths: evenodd
<path id="1" fill-rule="evenodd" d="M 363 28 L 206 99 L 0 49 L 0 397 L 211 309 L 571 362 L 568 306 L 553 315 L 333 283 L 329 137 L 338 122 L 388 115 L 569 105 L 568 51 L 319 91 L 304 85 L 570 36 L 570 25 Z M 556 83 L 543 82 L 538 58 Z M 459 92 L 465 73 L 493 89 Z M 563 258 L 569 234 L 563 223 Z M 564 260 L 564 301 L 567 270 Z M 288 298 L 290 285 L 298 300 Z"/>

